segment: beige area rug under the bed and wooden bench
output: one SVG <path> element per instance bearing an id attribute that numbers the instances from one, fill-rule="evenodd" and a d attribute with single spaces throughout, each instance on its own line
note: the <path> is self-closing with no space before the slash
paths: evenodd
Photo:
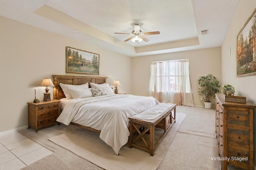
<path id="1" fill-rule="evenodd" d="M 154 156 L 135 147 L 129 148 L 128 144 L 116 156 L 113 149 L 99 138 L 99 133 L 86 129 L 76 129 L 49 140 L 106 170 L 156 170 L 185 117 L 184 113 L 176 113 L 176 123 L 156 148 Z"/>

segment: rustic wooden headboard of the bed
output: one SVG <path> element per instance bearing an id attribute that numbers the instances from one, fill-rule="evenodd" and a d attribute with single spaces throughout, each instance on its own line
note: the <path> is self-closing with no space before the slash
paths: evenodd
<path id="1" fill-rule="evenodd" d="M 90 82 L 96 84 L 105 83 L 107 77 L 90 77 L 90 76 L 70 76 L 70 75 L 52 75 L 53 76 L 53 99 L 62 99 L 66 98 L 64 95 L 62 88 L 60 87 L 60 83 L 63 84 L 72 84 L 72 85 L 80 85 L 88 83 L 90 87 Z"/>

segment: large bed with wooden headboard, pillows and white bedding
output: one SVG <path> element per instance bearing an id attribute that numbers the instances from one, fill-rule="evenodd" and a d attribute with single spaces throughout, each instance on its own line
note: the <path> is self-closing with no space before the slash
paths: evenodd
<path id="1" fill-rule="evenodd" d="M 62 101 L 60 102 L 62 112 L 57 121 L 100 133 L 100 139 L 112 147 L 118 155 L 120 148 L 128 142 L 130 135 L 128 118 L 159 103 L 153 97 L 114 94 L 106 79 L 107 77 L 53 75 L 54 99 Z M 72 88 L 80 86 L 85 88 L 82 90 L 69 89 L 71 96 L 74 96 L 74 98 L 70 98 L 66 89 L 64 90 L 66 95 L 64 94 L 63 84 Z M 104 95 L 100 95 L 102 89 L 103 92 L 105 89 Z M 93 96 L 86 96 L 85 94 L 90 90 L 93 92 Z M 100 91 L 99 95 L 94 96 L 95 90 Z M 82 98 L 80 94 L 82 97 L 83 95 L 86 97 Z"/>

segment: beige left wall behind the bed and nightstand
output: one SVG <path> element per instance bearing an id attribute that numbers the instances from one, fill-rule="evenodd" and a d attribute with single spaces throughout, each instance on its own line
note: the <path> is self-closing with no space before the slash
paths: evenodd
<path id="1" fill-rule="evenodd" d="M 42 80 L 66 73 L 66 46 L 100 55 L 100 75 L 130 93 L 131 58 L 0 16 L 0 131 L 28 125 L 27 102 L 43 100 Z M 117 64 L 118 61 L 118 64 Z M 81 74 L 76 74 L 81 75 Z M 50 88 L 51 98 L 53 88 Z"/>

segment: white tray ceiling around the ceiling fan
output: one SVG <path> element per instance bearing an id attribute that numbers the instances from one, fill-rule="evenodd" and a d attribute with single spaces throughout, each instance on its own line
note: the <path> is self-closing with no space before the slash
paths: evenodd
<path id="1" fill-rule="evenodd" d="M 130 57 L 220 47 L 239 0 L 0 0 L 0 16 Z M 124 42 L 134 24 L 149 42 Z M 201 31 L 209 29 L 207 35 Z M 69 46 L 67 44 L 67 46 Z M 75 48 L 75 47 L 74 47 Z M 86 50 L 83 49 L 83 50 Z"/>

